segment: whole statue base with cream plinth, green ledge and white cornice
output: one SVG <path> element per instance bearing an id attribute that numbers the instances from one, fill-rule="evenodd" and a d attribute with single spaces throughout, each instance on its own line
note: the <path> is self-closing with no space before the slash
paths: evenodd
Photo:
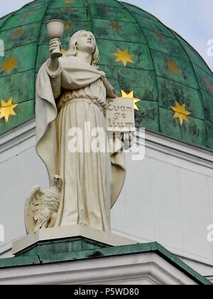
<path id="1" fill-rule="evenodd" d="M 0 259 L 1 284 L 212 285 L 160 244 L 87 226 L 40 229 Z"/>

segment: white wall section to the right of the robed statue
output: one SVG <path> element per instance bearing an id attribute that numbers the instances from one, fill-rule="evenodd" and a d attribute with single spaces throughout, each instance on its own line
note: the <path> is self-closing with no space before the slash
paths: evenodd
<path id="1" fill-rule="evenodd" d="M 207 226 L 213 224 L 212 162 L 212 152 L 146 132 L 145 159 L 134 162 L 126 155 L 126 183 L 111 214 L 114 234 L 158 241 L 212 275 L 213 242 L 207 241 Z"/>

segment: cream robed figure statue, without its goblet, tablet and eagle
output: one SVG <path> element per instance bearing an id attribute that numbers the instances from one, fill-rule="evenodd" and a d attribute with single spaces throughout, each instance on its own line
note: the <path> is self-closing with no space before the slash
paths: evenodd
<path id="1" fill-rule="evenodd" d="M 50 59 L 38 72 L 35 105 L 36 150 L 50 182 L 55 174 L 63 182 L 55 226 L 80 224 L 109 232 L 110 209 L 126 174 L 123 143 L 108 140 L 104 118 L 106 98 L 116 93 L 97 68 L 99 51 L 91 32 L 75 33 L 61 58 L 51 56 L 58 43 L 58 38 L 50 41 Z M 99 142 L 109 150 L 95 151 Z"/>

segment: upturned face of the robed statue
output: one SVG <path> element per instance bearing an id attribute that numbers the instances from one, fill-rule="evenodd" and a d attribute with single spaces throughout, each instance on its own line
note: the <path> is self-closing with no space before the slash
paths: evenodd
<path id="1" fill-rule="evenodd" d="M 88 51 L 93 53 L 96 46 L 96 41 L 92 32 L 83 31 L 77 38 L 77 50 L 78 51 Z"/>

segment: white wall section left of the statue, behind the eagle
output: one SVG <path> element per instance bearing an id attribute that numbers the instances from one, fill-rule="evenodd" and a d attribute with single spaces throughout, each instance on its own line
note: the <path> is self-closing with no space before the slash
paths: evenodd
<path id="1" fill-rule="evenodd" d="M 33 120 L 0 140 L 0 224 L 4 226 L 0 257 L 4 252 L 2 257 L 11 256 L 7 251 L 13 240 L 26 234 L 23 215 L 28 193 L 36 184 L 48 188 L 45 165 L 35 152 L 34 128 Z"/>

